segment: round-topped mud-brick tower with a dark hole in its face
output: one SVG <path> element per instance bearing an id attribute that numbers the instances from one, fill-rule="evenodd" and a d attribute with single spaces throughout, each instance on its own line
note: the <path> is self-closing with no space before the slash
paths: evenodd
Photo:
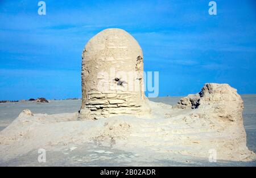
<path id="1" fill-rule="evenodd" d="M 141 46 L 123 29 L 109 28 L 82 51 L 81 120 L 148 113 Z"/>

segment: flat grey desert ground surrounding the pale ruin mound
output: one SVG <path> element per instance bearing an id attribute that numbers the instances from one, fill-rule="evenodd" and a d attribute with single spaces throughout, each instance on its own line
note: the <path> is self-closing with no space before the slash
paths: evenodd
<path id="1" fill-rule="evenodd" d="M 180 97 L 152 98 L 155 102 L 174 105 Z M 243 122 L 247 134 L 247 147 L 256 152 L 256 95 L 242 95 L 245 109 Z M 18 117 L 23 109 L 30 109 L 33 113 L 72 113 L 80 108 L 81 100 L 51 100 L 50 103 L 1 103 L 0 130 L 6 128 Z M 38 162 L 38 150 L 31 150 L 26 154 L 15 156 L 8 160 L 0 158 L 0 166 L 256 166 L 256 162 L 232 162 L 218 160 L 216 163 L 208 159 L 195 158 L 173 154 L 165 159 L 159 155 L 151 158 L 148 153 L 136 154 L 123 150 L 113 149 L 96 143 L 72 145 L 69 143 L 60 150 L 47 151 L 47 162 Z"/>

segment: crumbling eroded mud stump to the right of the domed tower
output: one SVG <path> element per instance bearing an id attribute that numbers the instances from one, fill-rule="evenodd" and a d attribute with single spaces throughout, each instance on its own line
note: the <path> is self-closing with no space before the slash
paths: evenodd
<path id="1" fill-rule="evenodd" d="M 191 115 L 184 118 L 193 127 L 210 121 L 211 128 L 223 139 L 216 144 L 223 150 L 222 157 L 238 160 L 250 159 L 253 152 L 246 147 L 246 133 L 243 127 L 243 100 L 237 90 L 229 84 L 207 83 L 199 94 L 182 98 L 174 108 L 191 109 Z M 203 118 L 196 121 L 195 118 Z M 206 126 L 209 124 L 204 123 Z M 216 139 L 220 139 L 216 136 Z M 235 158 L 236 157 L 236 158 Z"/>

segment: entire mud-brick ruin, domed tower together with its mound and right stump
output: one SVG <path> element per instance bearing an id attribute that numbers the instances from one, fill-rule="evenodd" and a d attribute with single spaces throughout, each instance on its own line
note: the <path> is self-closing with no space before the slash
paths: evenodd
<path id="1" fill-rule="evenodd" d="M 199 93 L 181 98 L 176 105 L 148 101 L 143 92 L 139 44 L 122 29 L 105 29 L 90 39 L 82 52 L 80 113 L 33 114 L 25 109 L 0 132 L 0 166 L 26 157 L 32 158 L 35 166 L 38 155 L 31 156 L 31 152 L 37 153 L 39 148 L 68 155 L 76 146 L 87 151 L 81 162 L 73 159 L 73 155 L 80 159 L 80 151 L 69 154 L 72 158 L 65 157 L 71 166 L 74 160 L 79 165 L 108 164 L 108 159 L 94 150 L 102 146 L 122 150 L 108 158 L 129 158 L 125 166 L 168 166 L 188 159 L 196 163 L 201 158 L 209 162 L 251 161 L 255 154 L 246 146 L 242 111 L 243 100 L 229 84 L 207 83 Z M 130 116 L 110 117 L 116 115 Z M 100 155 L 92 157 L 89 150 Z M 123 151 L 129 157 L 123 157 Z M 53 163 L 59 162 L 57 158 Z M 122 159 L 116 160 L 115 164 L 123 164 Z M 13 164 L 17 165 L 16 161 Z"/>

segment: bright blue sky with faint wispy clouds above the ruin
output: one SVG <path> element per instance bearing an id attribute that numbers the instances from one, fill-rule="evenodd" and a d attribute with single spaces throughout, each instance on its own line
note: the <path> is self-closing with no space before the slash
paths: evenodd
<path id="1" fill-rule="evenodd" d="M 216 1 L 0 1 L 0 100 L 81 97 L 81 52 L 105 28 L 122 28 L 159 71 L 159 96 L 229 83 L 256 94 L 256 3 Z"/>

